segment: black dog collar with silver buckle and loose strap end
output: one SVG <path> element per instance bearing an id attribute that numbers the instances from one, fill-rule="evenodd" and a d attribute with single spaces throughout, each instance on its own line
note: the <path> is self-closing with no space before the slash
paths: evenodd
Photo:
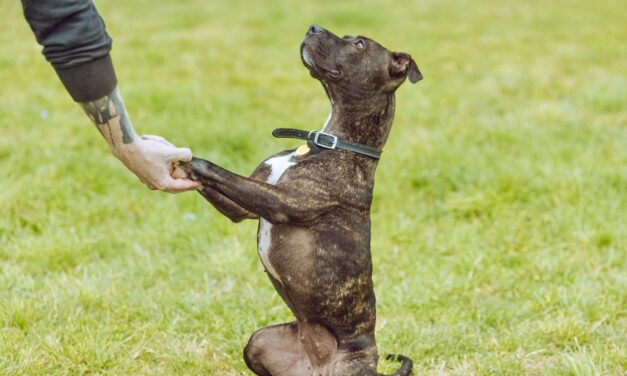
<path id="1" fill-rule="evenodd" d="M 381 150 L 370 146 L 356 144 L 350 141 L 340 140 L 337 136 L 321 131 L 303 131 L 292 128 L 277 128 L 272 131 L 272 135 L 277 138 L 297 138 L 306 140 L 308 143 L 323 149 L 343 149 L 353 153 L 366 155 L 370 158 L 381 158 Z"/>

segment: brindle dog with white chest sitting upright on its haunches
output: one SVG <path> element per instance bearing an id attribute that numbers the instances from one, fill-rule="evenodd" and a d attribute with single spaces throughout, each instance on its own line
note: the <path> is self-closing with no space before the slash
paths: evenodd
<path id="1" fill-rule="evenodd" d="M 422 75 L 410 55 L 365 37 L 309 28 L 301 57 L 332 105 L 324 131 L 381 149 L 394 92 Z M 242 177 L 202 159 L 181 166 L 234 222 L 259 219 L 261 260 L 296 321 L 255 332 L 257 375 L 376 375 L 370 204 L 377 159 L 346 150 L 284 151 Z M 409 375 L 411 361 L 394 375 Z"/>

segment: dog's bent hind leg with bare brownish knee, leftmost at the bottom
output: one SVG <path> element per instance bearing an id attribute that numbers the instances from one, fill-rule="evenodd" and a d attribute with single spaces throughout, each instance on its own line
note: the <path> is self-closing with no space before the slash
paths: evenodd
<path id="1" fill-rule="evenodd" d="M 312 373 L 296 322 L 256 331 L 244 348 L 244 361 L 259 376 L 304 376 Z"/>

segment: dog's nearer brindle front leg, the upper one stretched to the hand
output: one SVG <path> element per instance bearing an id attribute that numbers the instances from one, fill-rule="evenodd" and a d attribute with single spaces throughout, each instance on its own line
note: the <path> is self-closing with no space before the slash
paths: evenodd
<path id="1" fill-rule="evenodd" d="M 203 159 L 194 158 L 181 167 L 203 187 L 218 191 L 244 210 L 271 223 L 308 222 L 338 205 L 328 196 L 327 190 L 317 189 L 316 199 L 310 199 L 306 197 L 309 192 L 306 186 L 300 190 L 283 190 L 237 175 Z"/>

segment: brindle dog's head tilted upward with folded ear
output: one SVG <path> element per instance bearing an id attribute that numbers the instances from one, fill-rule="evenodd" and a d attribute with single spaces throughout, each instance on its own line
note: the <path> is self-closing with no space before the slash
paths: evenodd
<path id="1" fill-rule="evenodd" d="M 411 83 L 422 79 L 409 54 L 388 51 L 362 36 L 340 38 L 318 25 L 309 28 L 300 51 L 311 75 L 335 96 L 390 93 L 407 78 Z"/>

